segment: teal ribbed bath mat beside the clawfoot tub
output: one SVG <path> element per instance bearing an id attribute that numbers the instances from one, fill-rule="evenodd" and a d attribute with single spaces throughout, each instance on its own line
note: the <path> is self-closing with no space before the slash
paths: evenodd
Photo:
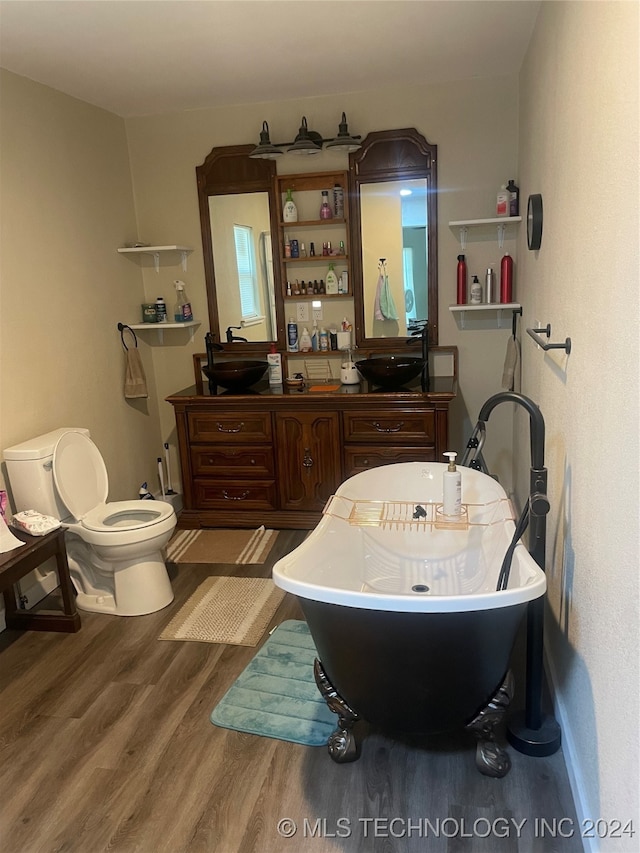
<path id="1" fill-rule="evenodd" d="M 224 729 L 324 746 L 337 717 L 313 677 L 317 656 L 306 622 L 278 625 L 211 714 Z"/>

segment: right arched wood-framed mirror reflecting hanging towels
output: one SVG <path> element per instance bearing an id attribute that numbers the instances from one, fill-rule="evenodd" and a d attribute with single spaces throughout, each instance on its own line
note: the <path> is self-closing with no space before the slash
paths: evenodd
<path id="1" fill-rule="evenodd" d="M 425 324 L 438 343 L 436 155 L 414 128 L 370 133 L 349 155 L 358 346 L 388 349 Z"/>

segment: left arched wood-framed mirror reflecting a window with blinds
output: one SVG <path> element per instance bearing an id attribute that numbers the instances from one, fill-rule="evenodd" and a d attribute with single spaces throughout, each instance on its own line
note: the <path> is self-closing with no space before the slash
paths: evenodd
<path id="1" fill-rule="evenodd" d="M 245 349 L 284 344 L 277 234 L 276 167 L 252 160 L 252 145 L 213 148 L 196 168 L 209 328 L 215 340 Z M 280 339 L 282 337 L 282 340 Z"/>

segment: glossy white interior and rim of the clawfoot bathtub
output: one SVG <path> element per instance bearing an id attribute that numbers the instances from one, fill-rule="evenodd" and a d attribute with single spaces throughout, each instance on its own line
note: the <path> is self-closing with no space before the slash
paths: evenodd
<path id="1" fill-rule="evenodd" d="M 544 573 L 522 543 L 507 589 L 496 591 L 515 531 L 511 503 L 491 477 L 460 469 L 464 514 L 447 519 L 446 467 L 401 463 L 347 480 L 315 531 L 276 564 L 276 583 L 315 600 L 418 611 L 501 607 L 542 594 Z"/>

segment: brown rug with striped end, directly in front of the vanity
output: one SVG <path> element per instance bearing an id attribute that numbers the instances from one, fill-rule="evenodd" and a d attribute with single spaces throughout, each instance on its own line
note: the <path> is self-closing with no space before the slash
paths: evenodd
<path id="1" fill-rule="evenodd" d="M 167 546 L 170 563 L 264 563 L 277 530 L 179 530 Z"/>

